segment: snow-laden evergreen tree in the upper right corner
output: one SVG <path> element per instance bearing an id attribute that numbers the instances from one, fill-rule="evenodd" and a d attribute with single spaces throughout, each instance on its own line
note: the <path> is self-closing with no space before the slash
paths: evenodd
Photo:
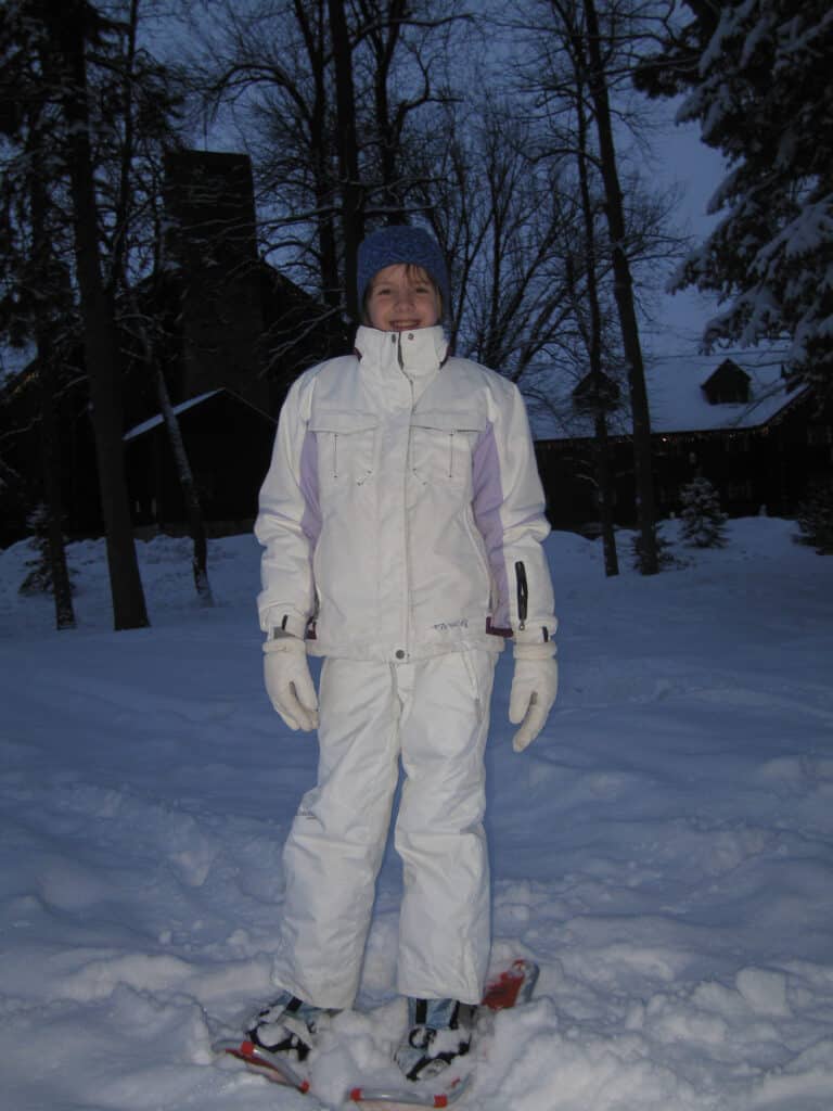
<path id="1" fill-rule="evenodd" d="M 831 390 L 833 11 L 829 0 L 686 4 L 694 21 L 638 83 L 656 94 L 688 88 L 678 118 L 700 120 L 729 172 L 710 204 L 723 219 L 683 264 L 678 288 L 725 302 L 707 346 L 789 337 L 796 376 Z"/>

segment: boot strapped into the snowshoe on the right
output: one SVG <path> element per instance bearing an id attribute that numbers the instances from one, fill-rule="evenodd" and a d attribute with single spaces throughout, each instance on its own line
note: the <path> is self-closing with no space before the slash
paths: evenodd
<path id="1" fill-rule="evenodd" d="M 428 1080 L 469 1052 L 476 1007 L 453 999 L 409 999 L 408 1035 L 394 1053 L 408 1080 Z"/>

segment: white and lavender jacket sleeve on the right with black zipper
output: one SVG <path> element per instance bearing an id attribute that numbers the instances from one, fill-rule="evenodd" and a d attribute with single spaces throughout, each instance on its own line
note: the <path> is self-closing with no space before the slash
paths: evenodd
<path id="1" fill-rule="evenodd" d="M 505 379 L 474 450 L 473 491 L 496 594 L 492 627 L 511 631 L 516 643 L 552 640 L 558 621 L 543 549 L 544 492 L 521 391 Z"/>

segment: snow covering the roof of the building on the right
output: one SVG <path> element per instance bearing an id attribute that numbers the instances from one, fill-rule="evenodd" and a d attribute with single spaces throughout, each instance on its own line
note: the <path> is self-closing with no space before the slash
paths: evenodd
<path id="1" fill-rule="evenodd" d="M 727 359 L 749 374 L 750 400 L 711 404 L 702 387 Z M 783 361 L 784 352 L 780 349 L 646 359 L 651 431 L 710 432 L 765 424 L 803 392 L 789 388 L 782 377 Z M 628 386 L 626 382 L 620 384 L 623 403 L 609 419 L 612 436 L 631 432 Z M 535 390 L 528 399 L 534 439 L 568 440 L 593 436 L 592 417 L 576 412 L 573 406 L 575 386 L 574 379 L 560 376 L 545 393 Z"/>

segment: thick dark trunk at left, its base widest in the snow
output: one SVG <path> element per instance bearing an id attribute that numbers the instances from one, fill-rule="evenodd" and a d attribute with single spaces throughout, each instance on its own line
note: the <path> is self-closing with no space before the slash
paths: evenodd
<path id="1" fill-rule="evenodd" d="M 81 20 L 67 13 L 61 20 L 60 31 L 66 71 L 61 99 L 69 131 L 76 264 L 101 509 L 107 532 L 113 625 L 117 630 L 141 629 L 149 621 L 124 471 L 120 351 L 113 306 L 106 293 L 101 274 Z"/>

